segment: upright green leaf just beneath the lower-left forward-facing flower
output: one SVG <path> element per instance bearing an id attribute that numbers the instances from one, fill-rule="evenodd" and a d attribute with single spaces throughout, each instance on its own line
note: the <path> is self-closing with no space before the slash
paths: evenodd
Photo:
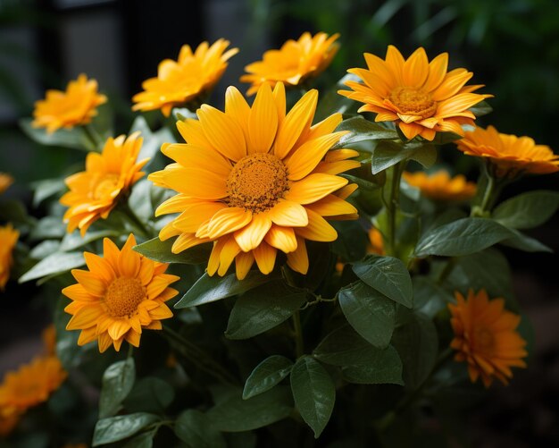
<path id="1" fill-rule="evenodd" d="M 104 371 L 99 397 L 99 418 L 111 417 L 121 410 L 121 402 L 132 390 L 135 379 L 133 358 L 117 361 Z"/>

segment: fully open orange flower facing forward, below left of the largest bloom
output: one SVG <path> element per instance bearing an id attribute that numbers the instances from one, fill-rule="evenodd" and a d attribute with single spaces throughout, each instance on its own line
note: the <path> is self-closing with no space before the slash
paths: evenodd
<path id="1" fill-rule="evenodd" d="M 161 330 L 160 321 L 172 317 L 165 302 L 179 293 L 169 287 L 179 277 L 132 250 L 132 234 L 121 250 L 108 238 L 103 245 L 104 257 L 84 252 L 89 271 L 73 269 L 78 283 L 63 289 L 72 300 L 66 329 L 81 330 L 79 345 L 97 340 L 101 352 L 111 344 L 120 351 L 124 340 L 138 347 L 142 330 Z"/>

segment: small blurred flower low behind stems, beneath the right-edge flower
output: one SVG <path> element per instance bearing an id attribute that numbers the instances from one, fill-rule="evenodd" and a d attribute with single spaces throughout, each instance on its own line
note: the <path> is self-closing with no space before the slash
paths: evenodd
<path id="1" fill-rule="evenodd" d="M 467 200 L 476 194 L 476 184 L 466 181 L 462 174 L 450 177 L 445 170 L 427 174 L 405 172 L 402 174 L 405 182 L 421 191 L 425 198 L 435 200 Z"/>

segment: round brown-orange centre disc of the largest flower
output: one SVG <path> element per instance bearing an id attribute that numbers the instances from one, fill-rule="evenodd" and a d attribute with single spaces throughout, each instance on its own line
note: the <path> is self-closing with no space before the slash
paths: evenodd
<path id="1" fill-rule="evenodd" d="M 288 190 L 288 169 L 272 154 L 256 153 L 240 159 L 227 179 L 229 207 L 254 213 L 273 207 Z"/>

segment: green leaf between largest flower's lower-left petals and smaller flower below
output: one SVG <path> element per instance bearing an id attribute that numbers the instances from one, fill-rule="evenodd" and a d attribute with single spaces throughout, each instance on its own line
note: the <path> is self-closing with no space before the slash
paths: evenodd
<path id="1" fill-rule="evenodd" d="M 211 244 L 200 244 L 193 248 L 183 250 L 179 254 L 171 252 L 172 240 L 161 241 L 159 238 L 154 238 L 134 246 L 134 250 L 143 256 L 159 261 L 160 263 L 181 263 L 185 265 L 197 265 L 199 263 L 207 262 L 210 258 L 212 251 Z"/>

